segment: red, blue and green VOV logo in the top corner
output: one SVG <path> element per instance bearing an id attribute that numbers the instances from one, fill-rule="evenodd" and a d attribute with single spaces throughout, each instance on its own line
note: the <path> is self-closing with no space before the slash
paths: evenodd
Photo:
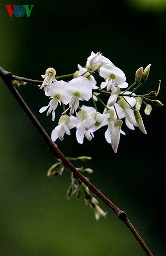
<path id="1" fill-rule="evenodd" d="M 27 17 L 29 18 L 34 4 L 23 4 L 23 5 L 5 4 L 5 6 L 10 17 L 12 17 L 14 14 L 16 17 L 20 18 L 26 14 Z"/>

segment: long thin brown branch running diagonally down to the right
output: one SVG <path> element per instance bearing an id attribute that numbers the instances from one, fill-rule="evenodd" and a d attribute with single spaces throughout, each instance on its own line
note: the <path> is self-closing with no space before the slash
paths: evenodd
<path id="1" fill-rule="evenodd" d="M 46 142 L 47 146 L 49 147 L 49 151 L 52 152 L 52 154 L 58 158 L 61 159 L 63 164 L 66 165 L 73 174 L 78 177 L 98 198 L 100 198 L 101 201 L 103 201 L 106 205 L 108 205 L 109 208 L 111 208 L 119 219 L 121 219 L 126 226 L 130 229 L 130 231 L 133 233 L 133 236 L 137 239 L 139 244 L 141 245 L 142 249 L 145 251 L 147 256 L 153 256 L 143 241 L 143 239 L 140 237 L 140 235 L 137 233 L 131 222 L 129 221 L 127 214 L 120 210 L 113 202 L 111 202 L 108 198 L 106 198 L 99 189 L 97 189 L 92 183 L 90 183 L 75 167 L 72 165 L 67 158 L 63 155 L 63 153 L 59 150 L 57 145 L 52 142 L 50 139 L 50 136 L 47 134 L 47 132 L 42 128 L 36 117 L 33 115 L 32 111 L 28 108 L 27 104 L 24 102 L 16 88 L 12 84 L 13 75 L 11 72 L 7 72 L 3 70 L 0 67 L 0 76 L 4 83 L 7 85 L 11 93 L 16 98 L 17 102 L 21 106 L 21 108 L 24 110 L 24 112 L 27 114 L 31 122 L 33 123 L 34 127 L 37 129 L 37 131 L 40 133 L 44 141 Z"/>

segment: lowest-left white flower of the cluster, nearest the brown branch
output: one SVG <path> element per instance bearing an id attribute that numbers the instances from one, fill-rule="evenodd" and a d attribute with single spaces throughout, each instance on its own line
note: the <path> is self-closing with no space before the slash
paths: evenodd
<path id="1" fill-rule="evenodd" d="M 59 125 L 55 127 L 51 133 L 52 141 L 56 141 L 57 138 L 62 141 L 65 132 L 67 135 L 70 135 L 70 129 L 76 127 L 78 122 L 79 121 L 75 116 L 62 115 L 58 122 Z"/>

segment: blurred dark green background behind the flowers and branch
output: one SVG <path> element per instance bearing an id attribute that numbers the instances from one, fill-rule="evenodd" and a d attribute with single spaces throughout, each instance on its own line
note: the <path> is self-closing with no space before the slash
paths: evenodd
<path id="1" fill-rule="evenodd" d="M 151 63 L 140 92 L 166 95 L 166 4 L 139 0 L 0 1 L 0 66 L 15 75 L 41 79 L 49 67 L 57 75 L 85 65 L 100 51 L 121 68 L 129 84 L 137 68 Z M 8 16 L 5 4 L 34 4 L 30 18 Z M 18 91 L 50 135 L 55 127 L 39 109 L 48 103 L 42 90 Z M 153 106 L 152 106 L 153 107 Z M 142 117 L 147 135 L 124 128 L 115 154 L 105 129 L 79 145 L 73 130 L 57 145 L 66 156 L 88 155 L 89 177 L 124 210 L 154 256 L 166 255 L 165 107 Z M 47 177 L 53 156 L 13 95 L 0 80 L 0 255 L 144 256 L 127 227 L 100 200 L 107 218 L 97 222 L 83 197 L 66 200 L 70 174 Z"/>

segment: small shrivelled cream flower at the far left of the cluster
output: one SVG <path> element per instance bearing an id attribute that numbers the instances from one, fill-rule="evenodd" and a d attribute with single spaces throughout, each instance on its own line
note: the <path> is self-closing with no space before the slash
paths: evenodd
<path id="1" fill-rule="evenodd" d="M 44 91 L 49 90 L 51 87 L 51 83 L 57 81 L 55 79 L 56 71 L 53 68 L 49 68 L 46 70 L 46 73 L 41 75 L 44 79 L 40 89 L 43 88 Z"/>

